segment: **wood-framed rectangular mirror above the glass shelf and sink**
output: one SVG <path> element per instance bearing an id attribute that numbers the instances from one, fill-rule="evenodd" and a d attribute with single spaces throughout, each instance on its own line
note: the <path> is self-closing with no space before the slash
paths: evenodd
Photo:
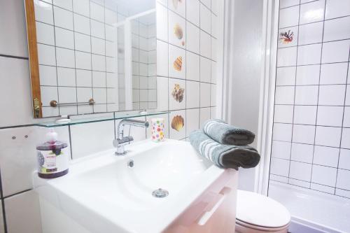
<path id="1" fill-rule="evenodd" d="M 34 118 L 157 107 L 155 0 L 25 0 Z"/>

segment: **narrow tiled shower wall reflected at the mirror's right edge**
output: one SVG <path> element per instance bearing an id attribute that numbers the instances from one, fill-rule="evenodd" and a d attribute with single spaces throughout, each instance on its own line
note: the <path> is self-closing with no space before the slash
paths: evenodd
<path id="1" fill-rule="evenodd" d="M 154 17 L 149 22 L 149 18 Z M 155 13 L 132 20 L 132 109 L 157 108 Z"/>

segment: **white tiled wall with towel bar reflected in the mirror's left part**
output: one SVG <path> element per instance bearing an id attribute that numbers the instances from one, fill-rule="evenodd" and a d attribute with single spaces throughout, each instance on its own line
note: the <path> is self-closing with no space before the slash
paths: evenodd
<path id="1" fill-rule="evenodd" d="M 118 111 L 117 6 L 104 1 L 36 0 L 43 117 Z M 59 106 L 88 102 L 94 106 Z"/>

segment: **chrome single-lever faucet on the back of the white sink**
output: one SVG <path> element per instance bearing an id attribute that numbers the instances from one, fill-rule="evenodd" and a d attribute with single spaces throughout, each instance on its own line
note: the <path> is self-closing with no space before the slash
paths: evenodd
<path id="1" fill-rule="evenodd" d="M 144 120 L 132 120 L 132 119 L 123 119 L 118 124 L 118 139 L 113 140 L 113 146 L 117 148 L 116 155 L 125 155 L 127 152 L 125 151 L 124 146 L 126 144 L 130 144 L 130 142 L 134 141 L 132 136 L 124 136 L 124 126 L 130 125 L 136 127 L 145 127 L 149 126 L 149 123 Z"/>

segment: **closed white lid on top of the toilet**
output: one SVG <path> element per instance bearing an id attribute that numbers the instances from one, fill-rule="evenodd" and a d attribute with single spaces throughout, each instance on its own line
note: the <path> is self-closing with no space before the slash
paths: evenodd
<path id="1" fill-rule="evenodd" d="M 269 197 L 237 190 L 236 218 L 251 225 L 276 228 L 290 222 L 290 213 Z"/>

